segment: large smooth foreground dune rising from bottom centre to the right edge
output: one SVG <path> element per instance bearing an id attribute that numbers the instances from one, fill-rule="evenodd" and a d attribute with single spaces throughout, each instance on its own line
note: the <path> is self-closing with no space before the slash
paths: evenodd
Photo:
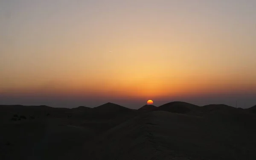
<path id="1" fill-rule="evenodd" d="M 256 130 L 243 124 L 230 126 L 230 121 L 147 112 L 88 141 L 74 159 L 255 160 Z M 256 119 L 247 121 L 255 124 Z"/>

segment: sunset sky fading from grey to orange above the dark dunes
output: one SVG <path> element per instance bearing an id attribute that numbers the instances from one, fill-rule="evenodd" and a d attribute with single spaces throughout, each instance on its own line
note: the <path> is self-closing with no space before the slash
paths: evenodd
<path id="1" fill-rule="evenodd" d="M 255 0 L 0 0 L 0 104 L 256 104 Z"/>

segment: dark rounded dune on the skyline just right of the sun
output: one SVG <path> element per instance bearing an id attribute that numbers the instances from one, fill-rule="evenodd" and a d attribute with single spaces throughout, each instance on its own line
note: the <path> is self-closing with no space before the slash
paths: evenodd
<path id="1" fill-rule="evenodd" d="M 167 104 L 163 104 L 162 106 L 157 107 L 154 110 L 159 111 L 167 111 L 167 112 L 175 112 L 175 113 L 188 113 L 192 110 L 197 110 L 199 106 L 194 104 L 189 104 L 186 102 L 174 101 Z"/>

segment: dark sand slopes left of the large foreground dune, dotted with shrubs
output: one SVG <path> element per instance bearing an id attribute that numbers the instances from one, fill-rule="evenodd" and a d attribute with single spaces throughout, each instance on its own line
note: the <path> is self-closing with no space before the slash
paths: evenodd
<path id="1" fill-rule="evenodd" d="M 1 160 L 65 160 L 137 112 L 115 104 L 94 109 L 0 106 L 0 115 Z"/>

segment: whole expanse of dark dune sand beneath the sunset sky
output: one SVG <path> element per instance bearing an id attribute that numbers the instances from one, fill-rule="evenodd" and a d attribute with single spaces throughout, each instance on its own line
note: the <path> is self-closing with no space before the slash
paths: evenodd
<path id="1" fill-rule="evenodd" d="M 55 116 L 44 108 L 49 115 L 39 109 L 37 118 L 20 121 L 6 119 L 17 109 L 2 108 L 0 159 L 256 160 L 256 116 L 244 109 L 207 106 L 180 114 L 110 108 L 105 114 L 62 109 Z"/>

